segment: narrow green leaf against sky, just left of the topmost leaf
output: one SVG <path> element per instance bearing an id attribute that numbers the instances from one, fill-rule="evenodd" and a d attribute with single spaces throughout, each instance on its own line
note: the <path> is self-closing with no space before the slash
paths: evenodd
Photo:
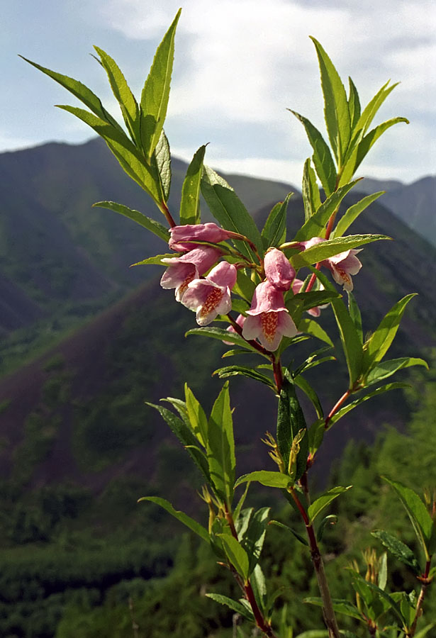
<path id="1" fill-rule="evenodd" d="M 125 77 L 115 60 L 103 49 L 96 46 L 94 46 L 94 49 L 99 54 L 101 65 L 108 74 L 109 84 L 111 84 L 113 95 L 120 105 L 125 125 L 128 128 L 132 140 L 135 142 L 135 145 L 140 146 L 140 111 L 135 96 L 132 91 L 130 91 Z"/>

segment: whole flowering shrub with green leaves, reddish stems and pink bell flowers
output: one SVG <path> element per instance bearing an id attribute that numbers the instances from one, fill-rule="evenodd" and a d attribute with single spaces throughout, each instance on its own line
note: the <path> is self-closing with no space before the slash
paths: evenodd
<path id="1" fill-rule="evenodd" d="M 220 379 L 247 376 L 267 385 L 277 398 L 276 434 L 267 432 L 264 440 L 276 469 L 253 469 L 237 479 L 228 381 L 208 417 L 187 386 L 184 401 L 167 399 L 174 411 L 154 405 L 203 476 L 202 498 L 207 505 L 208 528 L 175 510 L 163 498 L 147 496 L 140 500 L 161 505 L 189 527 L 211 545 L 220 564 L 233 574 L 241 597 L 232 600 L 219 593 L 208 593 L 210 598 L 228 605 L 240 617 L 256 625 L 265 636 L 289 638 L 292 629 L 280 620 L 275 603 L 280 591 L 268 591 L 259 562 L 267 525 L 274 522 L 269 520 L 270 508 L 255 511 L 244 507 L 249 486 L 260 483 L 278 488 L 299 513 L 306 538 L 289 528 L 284 534 L 290 531 L 308 548 L 318 580 L 320 597 L 306 598 L 306 602 L 323 608 L 325 629 L 308 632 L 304 634 L 306 638 L 309 635 L 313 638 L 315 635 L 331 638 L 347 635 L 351 638 L 368 634 L 386 638 L 423 638 L 431 630 L 427 625 L 417 633 L 425 593 L 436 571 L 432 566 L 436 550 L 435 503 L 424 503 L 410 488 L 386 478 L 408 512 L 420 556 L 415 556 L 406 544 L 389 532 L 378 530 L 374 537 L 408 566 L 416 577 L 418 591 L 389 593 L 386 589 L 386 553 L 378 558 L 371 551 L 366 554 L 365 575 L 360 573 L 357 565 L 350 571 L 355 593 L 353 603 L 331 598 L 319 547 L 323 529 L 330 522 L 329 515 L 325 516 L 328 506 L 351 486 L 336 486 L 311 500 L 308 482 L 323 437 L 340 418 L 373 396 L 403 387 L 401 383 L 386 383 L 398 370 L 426 366 L 423 359 L 415 357 L 384 358 L 413 294 L 398 301 L 366 338 L 359 307 L 352 295 L 352 276 L 362 268 L 357 253 L 362 246 L 389 237 L 345 233 L 381 193 L 365 196 L 339 215 L 340 204 L 357 183 L 354 174 L 367 152 L 385 130 L 393 124 L 407 122 L 405 118 L 392 118 L 370 129 L 381 103 L 395 85 L 382 86 L 362 109 L 352 79 L 347 94 L 327 53 L 313 38 L 320 65 L 330 145 L 310 121 L 291 111 L 306 129 L 313 148 L 313 155 L 306 159 L 303 169 L 305 219 L 301 228 L 294 237 L 288 237 L 289 195 L 272 208 L 264 227 L 259 230 L 235 191 L 203 163 L 206 146 L 196 152 L 187 170 L 181 191 L 179 223 L 176 223 L 167 204 L 171 157 L 163 124 L 179 13 L 157 49 L 140 102 L 131 93 L 116 62 L 96 47 L 99 62 L 106 70 L 121 106 L 125 129 L 86 86 L 30 62 L 82 100 L 89 110 L 73 106 L 60 108 L 80 118 L 106 140 L 121 167 L 163 213 L 167 225 L 119 203 L 102 201 L 96 204 L 142 225 L 167 242 L 169 250 L 173 251 L 147 257 L 135 265 L 167 267 L 161 279 L 162 288 L 175 289 L 176 301 L 196 313 L 199 328 L 189 330 L 189 335 L 211 337 L 230 345 L 227 357 L 240 357 L 246 353 L 262 357 L 262 363 L 255 367 L 234 364 L 218 369 L 216 373 Z M 201 223 L 200 192 L 216 223 Z M 339 290 L 335 284 L 340 286 Z M 321 356 L 333 347 L 333 343 L 315 320 L 320 316 L 321 308 L 328 306 L 337 323 L 349 381 L 342 396 L 332 401 L 333 407 L 325 410 L 305 375 L 311 367 L 334 358 Z M 227 323 L 227 328 L 211 325 L 216 320 Z M 293 362 L 284 365 L 285 353 L 294 352 L 299 342 L 309 339 L 320 340 L 325 347 L 315 349 L 298 367 Z M 296 388 L 311 401 L 316 414 L 313 422 L 308 422 Z M 245 484 L 245 491 L 235 505 L 235 490 L 242 484 Z M 337 615 L 354 619 L 356 633 L 340 631 Z"/>

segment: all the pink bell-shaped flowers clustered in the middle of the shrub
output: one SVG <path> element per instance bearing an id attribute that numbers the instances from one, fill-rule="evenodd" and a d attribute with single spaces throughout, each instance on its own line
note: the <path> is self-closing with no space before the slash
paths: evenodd
<path id="1" fill-rule="evenodd" d="M 162 259 L 168 264 L 160 281 L 162 288 L 174 288 L 177 301 L 194 310 L 196 321 L 201 326 L 208 325 L 220 314 L 229 313 L 232 308 L 230 291 L 236 283 L 237 267 L 220 261 L 223 254 L 220 248 L 208 244 L 218 244 L 235 233 L 215 223 L 174 226 L 169 233 L 169 247 L 181 254 Z M 313 237 L 299 242 L 298 246 L 307 250 L 323 241 L 322 237 Z M 362 267 L 355 257 L 357 252 L 359 250 L 347 250 L 320 262 L 347 291 L 353 287 L 351 275 L 357 274 Z M 250 310 L 247 310 L 246 317 L 240 315 L 236 324 L 246 340 L 257 339 L 264 349 L 274 352 L 281 337 L 295 337 L 298 332 L 285 306 L 284 293 L 292 290 L 298 294 L 303 281 L 296 279 L 289 259 L 277 248 L 267 250 L 263 269 L 264 281 L 255 289 Z M 311 308 L 308 313 L 318 317 L 320 307 Z M 228 330 L 235 332 L 233 326 Z"/>

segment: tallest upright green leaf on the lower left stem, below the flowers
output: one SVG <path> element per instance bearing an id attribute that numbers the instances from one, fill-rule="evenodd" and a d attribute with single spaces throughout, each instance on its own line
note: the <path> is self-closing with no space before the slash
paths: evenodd
<path id="1" fill-rule="evenodd" d="M 228 381 L 213 404 L 208 421 L 207 455 L 211 481 L 220 498 L 230 507 L 235 483 L 235 439 Z"/>

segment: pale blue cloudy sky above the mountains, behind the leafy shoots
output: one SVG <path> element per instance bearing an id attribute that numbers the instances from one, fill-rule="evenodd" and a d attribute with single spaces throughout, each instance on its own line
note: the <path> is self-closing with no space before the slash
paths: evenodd
<path id="1" fill-rule="evenodd" d="M 403 116 L 376 142 L 359 174 L 410 183 L 436 173 L 434 0 L 3 0 L 0 18 L 0 152 L 94 133 L 55 104 L 77 104 L 18 54 L 79 79 L 119 118 L 106 74 L 89 55 L 106 50 L 135 95 L 179 6 L 165 130 L 189 161 L 301 184 L 311 155 L 292 108 L 324 129 L 322 43 L 366 104 L 388 79 L 401 82 L 374 123 Z"/>

